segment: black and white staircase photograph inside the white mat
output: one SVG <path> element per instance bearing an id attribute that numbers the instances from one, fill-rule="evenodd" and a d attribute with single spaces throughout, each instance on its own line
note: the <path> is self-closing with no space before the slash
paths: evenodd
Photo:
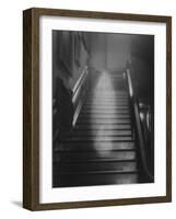
<path id="1" fill-rule="evenodd" d="M 154 35 L 52 30 L 52 187 L 154 183 Z"/>

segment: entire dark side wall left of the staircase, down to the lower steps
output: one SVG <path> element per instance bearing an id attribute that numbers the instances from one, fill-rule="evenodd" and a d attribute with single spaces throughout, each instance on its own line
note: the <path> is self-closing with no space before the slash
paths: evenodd
<path id="1" fill-rule="evenodd" d="M 81 32 L 52 31 L 54 141 L 72 130 L 74 85 L 89 62 L 87 38 Z"/>

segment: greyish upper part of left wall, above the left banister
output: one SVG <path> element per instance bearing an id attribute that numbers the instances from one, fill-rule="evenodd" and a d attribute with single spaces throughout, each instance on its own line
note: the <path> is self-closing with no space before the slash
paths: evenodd
<path id="1" fill-rule="evenodd" d="M 83 69 L 87 65 L 87 60 L 89 60 L 89 53 L 85 49 L 81 34 L 79 34 L 79 32 L 54 31 L 52 32 L 54 93 L 56 91 L 56 85 L 57 85 L 56 81 L 58 77 L 63 81 L 66 88 L 73 90 L 74 84 L 77 83 L 78 79 L 83 72 Z"/>

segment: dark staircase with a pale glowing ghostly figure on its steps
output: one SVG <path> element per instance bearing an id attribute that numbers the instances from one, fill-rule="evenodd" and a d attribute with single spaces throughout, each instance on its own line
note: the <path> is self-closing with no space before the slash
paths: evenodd
<path id="1" fill-rule="evenodd" d="M 54 187 L 139 182 L 122 72 L 99 73 L 73 131 L 54 151 Z"/>

